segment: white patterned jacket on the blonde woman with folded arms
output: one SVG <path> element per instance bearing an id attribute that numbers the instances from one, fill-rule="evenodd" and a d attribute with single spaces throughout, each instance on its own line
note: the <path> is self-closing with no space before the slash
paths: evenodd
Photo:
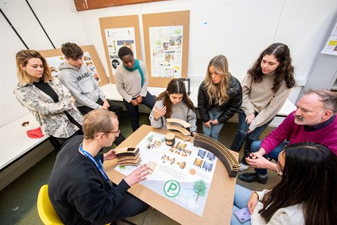
<path id="1" fill-rule="evenodd" d="M 73 105 L 70 99 L 71 93 L 60 80 L 54 78 L 48 84 L 57 93 L 59 102 L 55 103 L 50 96 L 33 84 L 18 83 L 14 89 L 15 97 L 33 114 L 39 122 L 43 134 L 57 138 L 68 138 L 79 128 L 69 121 L 63 111 L 67 111 L 81 125 L 82 114 Z"/>

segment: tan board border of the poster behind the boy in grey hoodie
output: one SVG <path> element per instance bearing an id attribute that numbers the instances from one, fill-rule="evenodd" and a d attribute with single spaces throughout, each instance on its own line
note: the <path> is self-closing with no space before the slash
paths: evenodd
<path id="1" fill-rule="evenodd" d="M 95 69 L 100 77 L 100 82 L 98 82 L 98 85 L 103 86 L 104 84 L 109 83 L 109 80 L 107 78 L 107 74 L 104 71 L 104 68 L 102 66 L 102 62 L 100 62 L 100 57 L 98 57 L 98 54 L 96 52 L 95 46 L 93 45 L 86 45 L 86 46 L 80 46 L 82 48 L 82 51 L 88 52 L 91 60 L 93 62 L 93 65 L 95 65 Z M 61 48 L 56 48 L 56 49 L 50 49 L 50 50 L 42 50 L 39 51 L 39 53 L 43 57 L 55 57 L 59 55 L 63 55 Z M 51 66 L 51 65 L 50 65 Z"/>

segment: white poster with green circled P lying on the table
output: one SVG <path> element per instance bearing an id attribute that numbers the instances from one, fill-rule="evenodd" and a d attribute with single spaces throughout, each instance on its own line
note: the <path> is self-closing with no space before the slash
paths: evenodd
<path id="1" fill-rule="evenodd" d="M 141 184 L 197 215 L 203 215 L 217 157 L 201 147 L 176 138 L 173 146 L 165 135 L 149 132 L 137 145 L 140 165 L 147 163 L 149 176 Z M 128 175 L 133 165 L 116 166 Z M 174 187 L 174 188 L 172 188 Z"/>

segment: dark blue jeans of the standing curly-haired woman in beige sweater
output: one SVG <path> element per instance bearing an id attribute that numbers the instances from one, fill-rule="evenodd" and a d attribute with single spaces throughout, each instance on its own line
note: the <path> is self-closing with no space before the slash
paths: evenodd
<path id="1" fill-rule="evenodd" d="M 255 117 L 257 116 L 257 112 L 255 111 Z M 234 141 L 232 143 L 232 146 L 230 146 L 230 150 L 233 150 L 235 152 L 240 152 L 242 145 L 244 145 L 244 142 L 246 141 L 244 145 L 244 156 L 242 157 L 242 163 L 244 165 L 248 165 L 246 163 L 246 157 L 248 156 L 248 152 L 251 152 L 251 145 L 254 141 L 259 140 L 259 136 L 262 134 L 264 129 L 268 127 L 268 125 L 271 123 L 271 120 L 269 120 L 267 123 L 260 127 L 256 127 L 253 132 L 250 134 L 247 134 L 249 124 L 246 123 L 246 114 L 244 114 L 244 111 L 241 109 L 237 112 L 237 115 L 239 116 L 239 125 L 237 129 L 237 133 L 235 134 Z"/>

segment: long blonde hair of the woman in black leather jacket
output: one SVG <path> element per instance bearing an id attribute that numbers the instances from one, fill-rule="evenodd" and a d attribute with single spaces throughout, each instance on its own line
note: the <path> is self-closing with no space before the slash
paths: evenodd
<path id="1" fill-rule="evenodd" d="M 221 82 L 215 84 L 210 76 L 210 66 L 213 66 L 215 71 L 221 75 Z M 228 100 L 227 88 L 230 84 L 230 73 L 228 72 L 228 62 L 224 55 L 217 55 L 210 60 L 207 67 L 205 87 L 207 89 L 209 104 L 212 102 L 212 97 L 215 97 L 215 102 L 219 105 Z"/>

